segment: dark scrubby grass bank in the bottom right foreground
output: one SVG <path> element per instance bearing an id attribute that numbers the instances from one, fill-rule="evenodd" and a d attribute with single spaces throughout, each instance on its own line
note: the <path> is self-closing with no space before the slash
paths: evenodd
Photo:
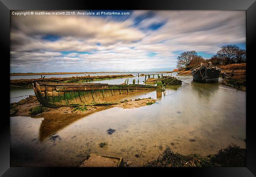
<path id="1" fill-rule="evenodd" d="M 246 149 L 231 143 L 214 155 L 201 157 L 196 154 L 174 153 L 169 147 L 156 160 L 150 160 L 143 167 L 245 167 Z"/>

